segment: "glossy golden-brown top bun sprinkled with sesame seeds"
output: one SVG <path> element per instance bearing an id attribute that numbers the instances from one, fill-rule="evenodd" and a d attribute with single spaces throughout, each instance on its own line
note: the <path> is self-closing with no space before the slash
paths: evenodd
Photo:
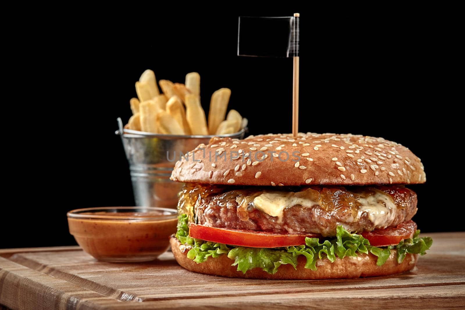
<path id="1" fill-rule="evenodd" d="M 235 159 L 238 154 L 241 156 Z M 296 139 L 291 134 L 249 136 L 243 140 L 213 137 L 209 145 L 201 144 L 187 156 L 174 166 L 172 180 L 266 186 L 426 181 L 420 158 L 408 148 L 362 135 L 307 132 L 299 133 Z"/>

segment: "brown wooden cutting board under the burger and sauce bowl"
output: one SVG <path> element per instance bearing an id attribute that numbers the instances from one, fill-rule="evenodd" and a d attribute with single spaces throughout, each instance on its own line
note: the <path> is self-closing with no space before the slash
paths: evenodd
<path id="1" fill-rule="evenodd" d="M 251 280 L 184 270 L 171 252 L 99 262 L 79 247 L 0 250 L 0 303 L 11 309 L 465 308 L 465 232 L 434 233 L 418 269 L 349 280 Z"/>

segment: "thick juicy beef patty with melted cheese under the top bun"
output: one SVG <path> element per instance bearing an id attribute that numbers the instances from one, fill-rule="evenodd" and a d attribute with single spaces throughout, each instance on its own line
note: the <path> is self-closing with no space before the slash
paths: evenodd
<path id="1" fill-rule="evenodd" d="M 402 185 L 280 190 L 187 186 L 197 193 L 190 196 L 196 222 L 219 228 L 334 236 L 338 225 L 352 232 L 372 231 L 397 226 L 417 212 L 416 193 Z"/>

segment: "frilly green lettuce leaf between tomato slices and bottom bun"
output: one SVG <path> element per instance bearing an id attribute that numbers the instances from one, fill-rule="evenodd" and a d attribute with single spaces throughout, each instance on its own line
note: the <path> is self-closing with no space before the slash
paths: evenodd
<path id="1" fill-rule="evenodd" d="M 227 254 L 234 260 L 233 266 L 237 266 L 238 271 L 246 273 L 253 268 L 274 274 L 280 265 L 290 264 L 297 269 L 297 258 L 299 255 L 306 257 L 305 268 L 317 270 L 316 263 L 319 259 L 328 258 L 334 262 L 336 257 L 346 256 L 357 257 L 358 253 L 372 253 L 378 257 L 376 264 L 383 265 L 391 255 L 391 250 L 397 250 L 397 261 L 402 263 L 407 253 L 424 255 L 432 245 L 430 237 L 419 238 L 419 230 L 415 232 L 412 239 L 405 239 L 398 245 L 388 247 L 376 247 L 361 235 L 351 234 L 343 226 L 338 226 L 336 237 L 331 240 L 324 240 L 320 243 L 318 238 L 305 238 L 305 244 L 289 246 L 283 248 L 249 248 L 243 246 L 233 246 L 204 241 L 189 237 L 188 216 L 182 214 L 178 217 L 178 231 L 176 237 L 181 244 L 188 244 L 191 250 L 187 252 L 187 257 L 196 263 L 205 262 L 208 257 L 219 257 Z"/>

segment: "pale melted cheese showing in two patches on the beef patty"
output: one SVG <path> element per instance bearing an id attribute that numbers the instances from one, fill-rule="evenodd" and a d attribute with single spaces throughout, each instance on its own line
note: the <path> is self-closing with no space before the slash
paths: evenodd
<path id="1" fill-rule="evenodd" d="M 251 197 L 252 198 L 252 197 Z M 320 201 L 314 201 L 309 198 L 296 197 L 293 192 L 262 192 L 252 199 L 244 199 L 253 201 L 256 209 L 265 212 L 266 214 L 277 217 L 278 222 L 282 221 L 284 209 L 300 204 L 304 207 L 321 205 Z M 349 222 L 357 222 L 363 214 L 367 214 L 368 219 L 377 227 L 384 227 L 387 223 L 391 223 L 396 217 L 397 206 L 394 204 L 391 196 L 383 191 L 371 192 L 369 195 L 360 195 L 357 199 L 361 204 L 357 217 L 350 217 Z M 343 223 L 341 223 L 343 224 Z"/>

